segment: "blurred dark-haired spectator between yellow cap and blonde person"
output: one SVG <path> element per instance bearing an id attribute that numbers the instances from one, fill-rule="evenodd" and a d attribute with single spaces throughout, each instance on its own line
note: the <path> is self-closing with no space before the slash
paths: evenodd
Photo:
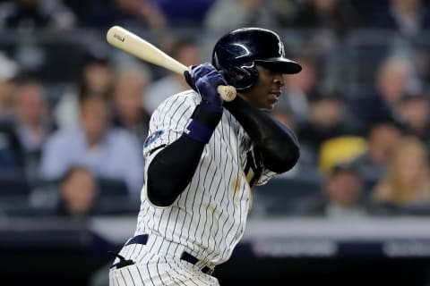
<path id="1" fill-rule="evenodd" d="M 402 137 L 403 126 L 394 118 L 382 117 L 370 122 L 366 129 L 366 152 L 357 157 L 354 164 L 366 181 L 366 187 L 372 189 L 387 171 L 391 150 Z"/>

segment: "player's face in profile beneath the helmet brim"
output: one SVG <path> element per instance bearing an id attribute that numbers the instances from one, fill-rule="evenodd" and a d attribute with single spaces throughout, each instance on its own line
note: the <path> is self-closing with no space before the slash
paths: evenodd
<path id="1" fill-rule="evenodd" d="M 263 110 L 272 110 L 281 94 L 284 79 L 279 71 L 273 71 L 261 65 L 256 65 L 259 78 L 252 88 L 241 93 L 250 104 Z"/>

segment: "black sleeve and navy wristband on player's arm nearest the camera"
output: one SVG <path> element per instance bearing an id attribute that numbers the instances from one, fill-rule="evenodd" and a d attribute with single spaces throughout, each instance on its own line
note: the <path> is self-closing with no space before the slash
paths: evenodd
<path id="1" fill-rule="evenodd" d="M 213 114 L 197 107 L 193 120 L 215 130 L 222 114 Z M 184 191 L 202 157 L 205 144 L 182 135 L 164 147 L 150 162 L 147 173 L 147 191 L 150 202 L 169 206 Z"/>

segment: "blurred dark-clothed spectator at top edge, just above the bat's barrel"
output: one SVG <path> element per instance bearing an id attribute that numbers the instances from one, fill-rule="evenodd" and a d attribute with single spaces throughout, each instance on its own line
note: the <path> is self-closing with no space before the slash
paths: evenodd
<path id="1" fill-rule="evenodd" d="M 81 17 L 83 27 L 107 28 L 113 23 L 138 27 L 144 24 L 153 30 L 162 30 L 168 25 L 159 7 L 150 0 L 93 1 Z"/>

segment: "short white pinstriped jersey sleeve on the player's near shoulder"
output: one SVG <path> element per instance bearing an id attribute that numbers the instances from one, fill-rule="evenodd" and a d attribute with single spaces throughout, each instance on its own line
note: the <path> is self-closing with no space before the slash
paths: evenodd
<path id="1" fill-rule="evenodd" d="M 167 146 L 181 137 L 197 106 L 193 92 L 169 97 L 154 111 L 150 118 L 148 137 L 143 143 L 143 156 Z"/>

